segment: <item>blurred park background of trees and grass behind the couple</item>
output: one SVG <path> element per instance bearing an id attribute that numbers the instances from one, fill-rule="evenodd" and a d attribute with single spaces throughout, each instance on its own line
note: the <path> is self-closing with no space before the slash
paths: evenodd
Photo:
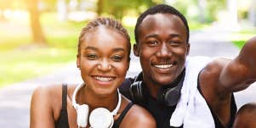
<path id="1" fill-rule="evenodd" d="M 0 0 L 0 88 L 73 63 L 82 27 L 97 16 L 122 21 L 134 43 L 138 15 L 158 3 L 178 8 L 191 31 L 231 31 L 236 47 L 256 35 L 256 0 Z"/>

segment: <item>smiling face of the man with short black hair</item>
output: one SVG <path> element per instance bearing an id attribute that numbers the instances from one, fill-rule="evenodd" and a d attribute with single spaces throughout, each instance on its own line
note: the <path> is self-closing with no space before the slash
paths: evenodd
<path id="1" fill-rule="evenodd" d="M 149 86 L 173 82 L 185 67 L 190 45 L 185 25 L 174 14 L 151 14 L 139 25 L 134 54 L 140 58 L 143 79 Z"/>

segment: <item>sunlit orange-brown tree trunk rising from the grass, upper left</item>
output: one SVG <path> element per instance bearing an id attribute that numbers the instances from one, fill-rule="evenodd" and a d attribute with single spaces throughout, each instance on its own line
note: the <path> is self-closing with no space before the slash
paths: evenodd
<path id="1" fill-rule="evenodd" d="M 30 13 L 33 42 L 38 45 L 46 45 L 45 36 L 43 34 L 42 27 L 39 20 L 40 12 L 38 10 L 38 1 L 27 0 L 27 5 L 28 5 L 28 11 Z"/>

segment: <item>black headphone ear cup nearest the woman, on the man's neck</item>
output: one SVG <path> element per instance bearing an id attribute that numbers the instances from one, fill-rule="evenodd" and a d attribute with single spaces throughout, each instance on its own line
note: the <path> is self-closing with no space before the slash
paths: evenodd
<path id="1" fill-rule="evenodd" d="M 142 81 L 135 81 L 129 88 L 134 103 L 145 102 L 142 89 Z"/>

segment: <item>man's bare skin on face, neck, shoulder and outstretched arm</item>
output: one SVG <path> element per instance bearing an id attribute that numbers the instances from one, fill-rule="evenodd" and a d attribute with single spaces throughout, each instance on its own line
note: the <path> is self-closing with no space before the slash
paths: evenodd
<path id="1" fill-rule="evenodd" d="M 139 25 L 134 54 L 140 58 L 143 81 L 151 96 L 172 83 L 185 68 L 189 53 L 185 25 L 174 14 L 150 14 Z M 202 95 L 225 126 L 230 121 L 232 92 L 256 81 L 256 37 L 246 42 L 234 59 L 216 58 L 199 75 Z"/>

